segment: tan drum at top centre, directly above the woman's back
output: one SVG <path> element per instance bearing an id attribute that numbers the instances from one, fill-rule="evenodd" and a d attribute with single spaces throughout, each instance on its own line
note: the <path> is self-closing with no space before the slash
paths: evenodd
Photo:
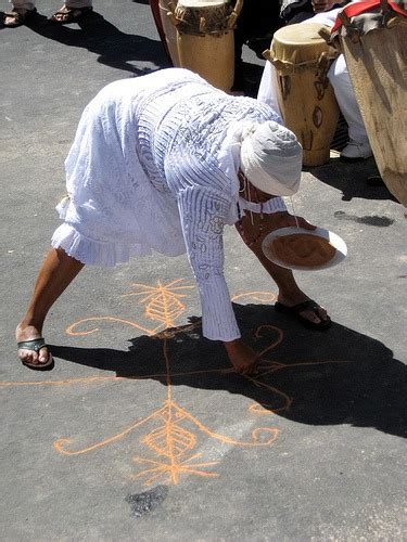
<path id="1" fill-rule="evenodd" d="M 233 28 L 242 1 L 179 0 L 175 10 L 179 65 L 221 90 L 234 79 Z"/>

